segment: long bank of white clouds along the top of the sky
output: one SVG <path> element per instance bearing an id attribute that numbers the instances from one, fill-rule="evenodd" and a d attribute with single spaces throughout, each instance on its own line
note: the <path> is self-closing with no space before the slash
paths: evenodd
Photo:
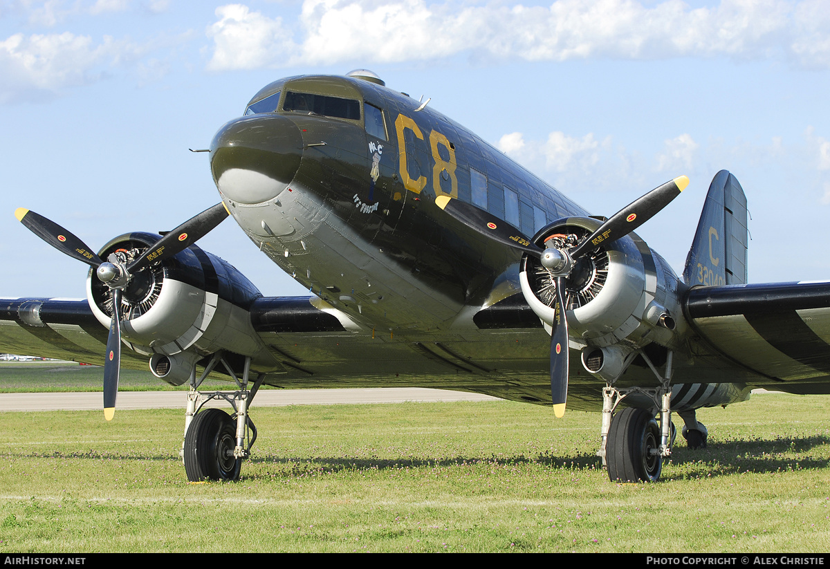
<path id="1" fill-rule="evenodd" d="M 214 41 L 212 69 L 457 54 L 525 61 L 778 56 L 826 67 L 828 12 L 821 0 L 722 0 L 698 8 L 680 0 L 557 0 L 549 7 L 305 0 L 296 20 L 242 4 L 220 7 L 207 33 Z"/>

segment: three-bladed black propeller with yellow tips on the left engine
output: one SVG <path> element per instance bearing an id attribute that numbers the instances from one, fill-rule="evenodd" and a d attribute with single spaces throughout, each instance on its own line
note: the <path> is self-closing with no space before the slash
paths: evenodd
<path id="1" fill-rule="evenodd" d="M 227 208 L 224 203 L 217 203 L 197 216 L 191 217 L 156 241 L 128 266 L 125 266 L 125 263 L 116 255 L 110 255 L 106 261 L 101 260 L 77 236 L 54 221 L 27 210 L 25 207 L 18 207 L 14 215 L 17 221 L 27 226 L 35 235 L 60 250 L 61 253 L 90 265 L 95 269 L 98 280 L 110 287 L 113 309 L 104 357 L 104 417 L 107 421 L 111 421 L 115 415 L 115 399 L 118 396 L 121 367 L 121 298 L 124 289 L 132 279 L 132 275 L 138 274 L 150 265 L 177 255 L 206 236 L 227 217 Z"/>

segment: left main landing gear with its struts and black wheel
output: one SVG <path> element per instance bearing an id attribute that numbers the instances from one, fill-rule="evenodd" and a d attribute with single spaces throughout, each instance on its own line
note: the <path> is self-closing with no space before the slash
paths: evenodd
<path id="1" fill-rule="evenodd" d="M 220 363 L 237 382 L 237 391 L 198 391 L 205 377 Z M 256 426 L 248 416 L 248 406 L 265 379 L 265 374 L 261 373 L 249 390 L 250 371 L 251 358 L 246 357 L 242 378 L 237 377 L 222 353 L 213 355 L 198 380 L 196 368 L 193 368 L 182 447 L 184 471 L 191 482 L 239 479 L 242 460 L 251 455 L 251 446 L 256 441 Z M 207 401 L 214 399 L 230 403 L 233 415 L 216 408 L 203 409 Z"/>

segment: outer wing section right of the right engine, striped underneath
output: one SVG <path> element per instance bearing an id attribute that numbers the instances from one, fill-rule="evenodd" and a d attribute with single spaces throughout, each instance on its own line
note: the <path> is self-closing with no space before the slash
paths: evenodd
<path id="1" fill-rule="evenodd" d="M 700 287 L 686 318 L 710 348 L 795 393 L 828 392 L 830 282 Z"/>

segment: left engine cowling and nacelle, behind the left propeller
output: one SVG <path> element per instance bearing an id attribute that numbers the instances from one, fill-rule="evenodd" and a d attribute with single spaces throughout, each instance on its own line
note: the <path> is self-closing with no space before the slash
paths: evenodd
<path id="1" fill-rule="evenodd" d="M 99 256 L 116 255 L 129 264 L 158 240 L 152 233 L 125 234 Z M 109 327 L 113 296 L 92 270 L 86 294 L 95 318 Z M 251 326 L 248 309 L 260 296 L 232 265 L 190 246 L 132 275 L 121 299 L 121 337 L 135 352 L 153 357 L 151 371 L 173 385 L 187 381 L 193 363 L 219 350 L 251 356 L 259 367 L 278 367 Z"/>

